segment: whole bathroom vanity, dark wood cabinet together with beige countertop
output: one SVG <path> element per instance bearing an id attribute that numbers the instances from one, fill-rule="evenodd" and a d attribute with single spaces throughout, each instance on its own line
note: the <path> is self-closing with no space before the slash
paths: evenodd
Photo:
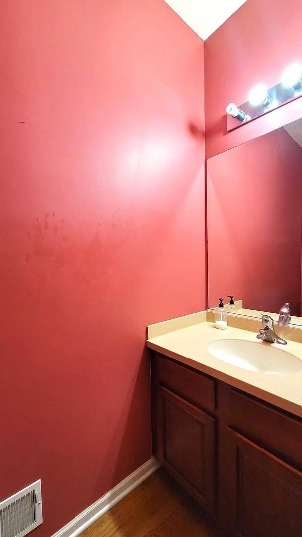
<path id="1" fill-rule="evenodd" d="M 148 337 L 153 454 L 230 535 L 298 537 L 302 372 L 268 375 L 224 364 L 207 351 L 219 332 L 204 322 Z M 300 345 L 289 342 L 288 351 L 297 356 Z"/>

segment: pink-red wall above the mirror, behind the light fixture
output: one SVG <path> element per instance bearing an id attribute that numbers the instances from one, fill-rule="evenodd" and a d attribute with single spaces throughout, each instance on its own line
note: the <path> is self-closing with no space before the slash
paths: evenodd
<path id="1" fill-rule="evenodd" d="M 302 115 L 302 98 L 230 133 L 225 108 L 248 99 L 259 82 L 281 80 L 293 61 L 302 61 L 302 3 L 248 0 L 205 41 L 206 156 L 270 132 Z"/>

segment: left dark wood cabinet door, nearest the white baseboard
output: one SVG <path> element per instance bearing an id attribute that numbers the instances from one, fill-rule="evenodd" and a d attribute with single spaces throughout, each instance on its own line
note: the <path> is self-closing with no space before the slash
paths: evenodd
<path id="1" fill-rule="evenodd" d="M 161 465 L 198 503 L 215 507 L 215 419 L 161 386 L 157 388 L 157 444 Z"/>

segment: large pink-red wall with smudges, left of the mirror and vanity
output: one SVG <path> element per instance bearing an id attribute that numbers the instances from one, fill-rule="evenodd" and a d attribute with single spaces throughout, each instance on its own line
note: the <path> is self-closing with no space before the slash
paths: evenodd
<path id="1" fill-rule="evenodd" d="M 0 500 L 49 537 L 151 456 L 145 326 L 205 308 L 203 42 L 162 0 L 1 3 Z"/>

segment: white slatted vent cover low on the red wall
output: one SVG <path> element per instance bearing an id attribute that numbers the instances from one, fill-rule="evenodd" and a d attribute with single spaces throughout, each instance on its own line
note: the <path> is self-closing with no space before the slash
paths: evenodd
<path id="1" fill-rule="evenodd" d="M 0 537 L 23 537 L 41 523 L 40 480 L 0 502 Z"/>

